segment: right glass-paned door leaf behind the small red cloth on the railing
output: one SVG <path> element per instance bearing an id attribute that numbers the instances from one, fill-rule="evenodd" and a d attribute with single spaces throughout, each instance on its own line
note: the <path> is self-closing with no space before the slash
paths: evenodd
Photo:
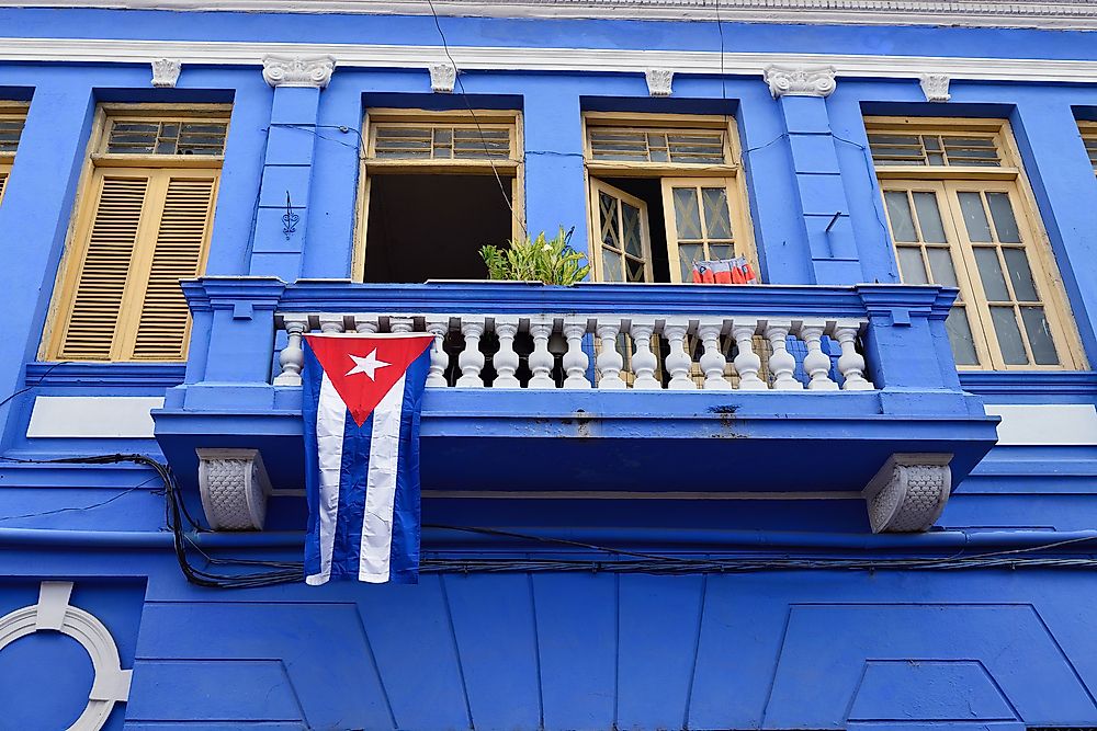
<path id="1" fill-rule="evenodd" d="M 737 198 L 728 195 L 733 184 L 724 178 L 663 179 L 671 282 L 690 282 L 694 262 L 743 254 L 736 253 L 733 230 L 740 220 L 734 209 Z"/>

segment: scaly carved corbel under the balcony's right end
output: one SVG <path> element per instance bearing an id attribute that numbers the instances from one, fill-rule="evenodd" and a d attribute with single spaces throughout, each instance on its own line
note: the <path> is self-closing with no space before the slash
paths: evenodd
<path id="1" fill-rule="evenodd" d="M 872 533 L 928 530 L 952 489 L 950 454 L 894 454 L 862 491 Z"/>

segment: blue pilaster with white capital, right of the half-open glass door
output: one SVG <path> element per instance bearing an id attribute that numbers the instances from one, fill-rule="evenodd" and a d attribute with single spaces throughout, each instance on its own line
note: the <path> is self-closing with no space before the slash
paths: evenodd
<path id="1" fill-rule="evenodd" d="M 769 66 L 765 78 L 789 137 L 815 284 L 855 284 L 861 265 L 826 108 L 834 67 Z"/>

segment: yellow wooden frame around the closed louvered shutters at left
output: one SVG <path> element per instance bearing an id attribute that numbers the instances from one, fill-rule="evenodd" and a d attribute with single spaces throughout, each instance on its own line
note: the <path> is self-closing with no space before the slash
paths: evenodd
<path id="1" fill-rule="evenodd" d="M 110 124 L 120 119 L 169 117 L 216 121 L 230 125 L 231 111 L 231 104 L 190 104 L 182 106 L 179 104 L 111 103 L 100 104 L 97 107 L 88 141 L 88 151 L 84 155 L 84 163 L 80 171 L 76 202 L 72 208 L 73 215 L 69 219 L 68 231 L 65 237 L 65 249 L 57 267 L 54 293 L 46 319 L 46 329 L 38 349 L 39 359 L 46 362 L 68 359 L 61 355 L 65 347 L 65 335 L 71 320 L 72 307 L 76 304 L 83 262 L 91 243 L 91 227 L 94 224 L 95 212 L 98 209 L 99 193 L 102 190 L 106 175 L 116 174 L 120 178 L 124 178 L 127 174 L 134 176 L 144 175 L 152 181 L 156 178 L 170 178 L 170 173 L 165 173 L 163 171 L 182 170 L 193 171 L 193 176 L 196 179 L 212 179 L 212 204 L 205 222 L 206 239 L 203 242 L 199 256 L 200 272 L 205 271 L 210 256 L 210 242 L 213 233 L 212 221 L 216 213 L 217 196 L 220 187 L 220 171 L 224 165 L 225 156 L 105 152 Z M 225 141 L 227 146 L 228 130 L 226 130 Z M 182 174 L 191 176 L 186 172 Z M 162 187 L 166 192 L 167 183 Z M 146 197 L 143 202 L 143 212 L 149 205 L 148 201 L 149 198 Z M 162 199 L 158 209 L 157 224 L 159 224 L 163 214 Z M 152 221 L 144 220 L 144 213 L 142 218 L 143 220 L 139 224 L 140 233 L 135 240 L 135 251 L 132 254 L 132 266 L 133 264 L 142 266 L 148 264 L 150 266 L 156 250 L 155 236 L 149 237 L 147 235 L 151 230 Z M 138 336 L 138 327 L 143 315 L 142 305 L 147 286 L 147 278 L 140 287 L 135 287 L 131 282 L 131 277 L 127 276 L 122 295 L 121 312 L 111 341 L 110 357 L 106 359 L 89 361 L 90 363 L 182 363 L 186 361 L 190 333 L 193 327 L 192 318 L 190 317 L 186 319 L 186 325 L 182 334 L 180 358 L 156 359 L 134 357 L 133 351 Z"/>

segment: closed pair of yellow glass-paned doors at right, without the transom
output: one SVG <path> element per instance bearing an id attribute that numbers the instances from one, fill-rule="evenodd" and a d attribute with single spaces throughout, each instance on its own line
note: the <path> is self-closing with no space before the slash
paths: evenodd
<path id="1" fill-rule="evenodd" d="M 960 289 L 946 322 L 958 366 L 1072 367 L 1052 282 L 1013 182 L 883 181 L 906 284 Z"/>

